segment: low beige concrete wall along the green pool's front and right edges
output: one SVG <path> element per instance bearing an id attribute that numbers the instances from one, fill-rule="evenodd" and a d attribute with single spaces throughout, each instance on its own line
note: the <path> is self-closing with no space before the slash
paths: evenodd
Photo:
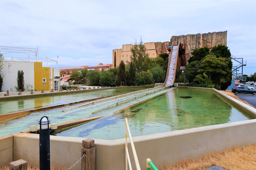
<path id="1" fill-rule="evenodd" d="M 214 90 L 202 88 L 206 90 Z M 214 90 L 248 113 L 256 115 L 256 109 L 230 96 Z M 125 132 L 124 132 L 125 136 Z M 50 137 L 51 164 L 59 168 L 69 168 L 81 156 L 82 140 L 76 137 Z M 256 119 L 184 129 L 153 135 L 133 137 L 141 168 L 146 168 L 146 158 L 156 166 L 174 164 L 180 160 L 197 158 L 204 154 L 219 152 L 232 146 L 256 143 Z M 124 169 L 125 139 L 95 139 L 96 169 Z M 135 168 L 132 150 L 128 145 L 132 167 Z M 0 167 L 24 159 L 29 165 L 39 167 L 39 135 L 15 133 L 0 138 Z M 73 169 L 80 169 L 78 163 Z"/>

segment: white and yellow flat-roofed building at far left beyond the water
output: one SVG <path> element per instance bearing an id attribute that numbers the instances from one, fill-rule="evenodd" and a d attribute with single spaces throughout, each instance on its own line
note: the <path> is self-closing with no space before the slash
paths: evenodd
<path id="1" fill-rule="evenodd" d="M 60 89 L 60 71 L 51 67 L 42 67 L 42 62 L 3 61 L 1 73 L 4 75 L 2 91 L 15 90 L 18 70 L 24 72 L 24 85 L 30 84 L 35 91 Z"/>

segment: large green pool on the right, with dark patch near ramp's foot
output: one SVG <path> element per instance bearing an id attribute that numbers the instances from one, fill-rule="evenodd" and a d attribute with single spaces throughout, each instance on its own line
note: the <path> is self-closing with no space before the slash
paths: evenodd
<path id="1" fill-rule="evenodd" d="M 142 104 L 58 133 L 92 139 L 124 138 L 124 118 L 132 136 L 254 119 L 210 90 L 176 88 Z"/>

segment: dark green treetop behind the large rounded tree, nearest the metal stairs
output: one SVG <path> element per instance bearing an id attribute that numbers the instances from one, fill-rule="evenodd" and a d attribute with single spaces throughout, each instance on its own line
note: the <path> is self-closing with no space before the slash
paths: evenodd
<path id="1" fill-rule="evenodd" d="M 228 62 L 228 68 L 232 69 L 231 53 L 226 45 L 214 46 L 210 52 L 211 55 L 215 55 L 217 58 L 222 57 Z"/>

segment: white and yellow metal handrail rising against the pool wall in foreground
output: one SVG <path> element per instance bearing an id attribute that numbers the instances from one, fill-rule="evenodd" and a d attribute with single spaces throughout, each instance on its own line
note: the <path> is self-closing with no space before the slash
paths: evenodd
<path id="1" fill-rule="evenodd" d="M 132 147 L 132 154 L 134 157 L 134 162 L 135 162 L 135 166 L 137 170 L 140 170 L 140 163 L 138 160 L 138 156 L 136 153 L 136 149 L 134 147 L 134 143 L 132 140 L 132 134 L 129 128 L 129 124 L 127 121 L 127 118 L 125 118 L 125 170 L 128 170 L 128 164 L 129 164 L 129 168 L 130 170 L 132 170 L 132 165 L 131 165 L 131 161 L 130 161 L 130 156 L 129 156 L 129 152 L 128 152 L 128 144 L 127 144 L 127 132 L 129 134 L 129 138 L 130 138 L 130 143 L 131 143 L 131 147 Z"/>

